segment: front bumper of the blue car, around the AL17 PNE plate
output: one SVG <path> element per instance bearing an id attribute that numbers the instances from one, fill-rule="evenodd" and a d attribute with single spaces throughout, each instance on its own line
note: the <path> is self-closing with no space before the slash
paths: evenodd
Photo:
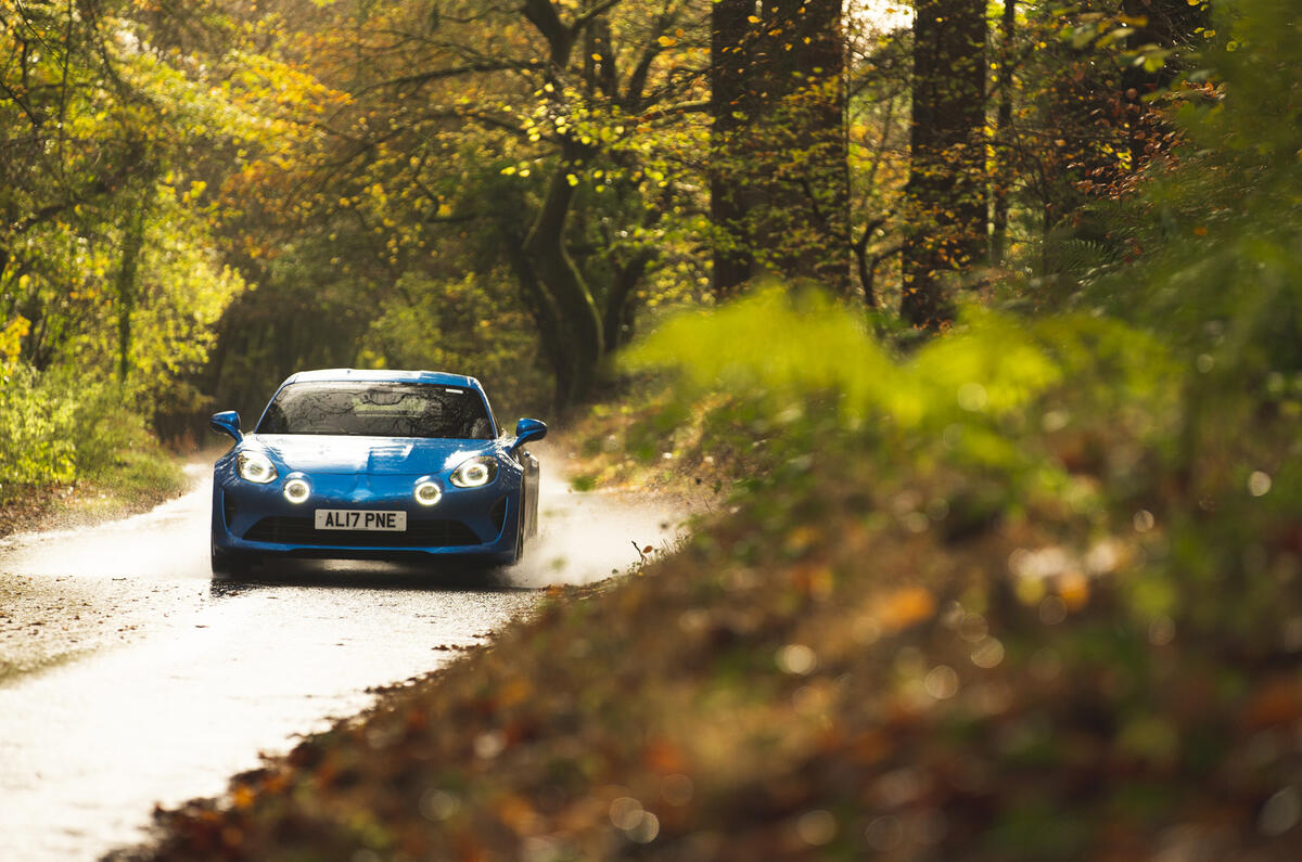
<path id="1" fill-rule="evenodd" d="M 255 484 L 238 478 L 233 462 L 219 462 L 212 482 L 214 551 L 353 559 L 464 555 L 503 563 L 516 557 L 521 494 L 519 477 L 510 471 L 500 470 L 482 488 L 443 482 L 443 496 L 431 507 L 413 496 L 419 477 L 303 475 L 311 494 L 297 504 L 284 496 L 289 477 Z M 408 529 L 316 530 L 316 509 L 405 512 Z"/>

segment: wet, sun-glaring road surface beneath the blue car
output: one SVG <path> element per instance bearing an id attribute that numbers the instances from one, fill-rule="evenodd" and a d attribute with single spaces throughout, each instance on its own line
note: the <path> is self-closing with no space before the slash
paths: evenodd
<path id="1" fill-rule="evenodd" d="M 191 467 L 197 479 L 208 467 Z M 669 512 L 544 484 L 542 536 L 497 573 L 289 563 L 212 582 L 210 486 L 95 529 L 0 542 L 0 858 L 92 859 L 155 803 L 216 796 L 297 736 L 661 544 Z"/>

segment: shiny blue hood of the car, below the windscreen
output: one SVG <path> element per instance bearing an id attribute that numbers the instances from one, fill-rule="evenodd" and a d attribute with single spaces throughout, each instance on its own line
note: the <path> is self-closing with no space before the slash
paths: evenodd
<path id="1" fill-rule="evenodd" d="M 289 470 L 316 474 L 423 475 L 450 470 L 493 452 L 492 440 L 353 438 L 294 434 L 250 435 Z"/>

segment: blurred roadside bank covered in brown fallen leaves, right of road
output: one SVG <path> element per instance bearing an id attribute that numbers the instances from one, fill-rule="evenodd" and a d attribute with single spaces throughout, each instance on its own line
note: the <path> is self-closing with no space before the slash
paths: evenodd
<path id="1" fill-rule="evenodd" d="M 753 464 L 680 552 L 113 858 L 1290 858 L 1297 755 L 1243 764 L 1295 676 L 1130 616 L 1160 527 L 1077 544 L 1060 499 L 831 443 Z"/>

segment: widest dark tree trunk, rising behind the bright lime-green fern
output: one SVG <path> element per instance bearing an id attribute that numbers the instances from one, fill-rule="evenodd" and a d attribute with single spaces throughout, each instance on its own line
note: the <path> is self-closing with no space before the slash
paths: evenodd
<path id="1" fill-rule="evenodd" d="M 715 293 L 760 270 L 849 296 L 842 0 L 719 0 L 711 12 Z"/>

